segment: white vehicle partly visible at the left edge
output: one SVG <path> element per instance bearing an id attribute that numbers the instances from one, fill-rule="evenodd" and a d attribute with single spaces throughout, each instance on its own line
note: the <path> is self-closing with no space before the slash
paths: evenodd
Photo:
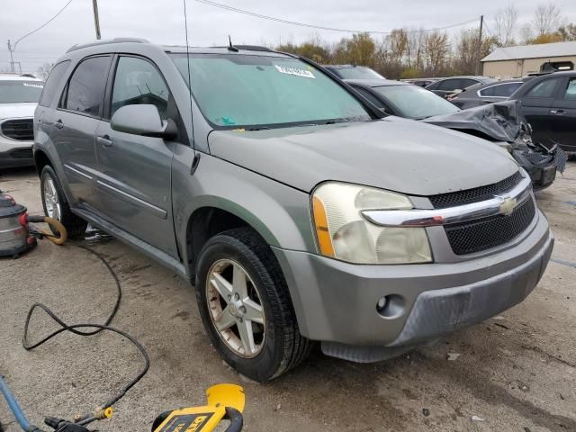
<path id="1" fill-rule="evenodd" d="M 43 86 L 32 76 L 0 74 L 0 169 L 34 165 L 34 110 Z"/>

